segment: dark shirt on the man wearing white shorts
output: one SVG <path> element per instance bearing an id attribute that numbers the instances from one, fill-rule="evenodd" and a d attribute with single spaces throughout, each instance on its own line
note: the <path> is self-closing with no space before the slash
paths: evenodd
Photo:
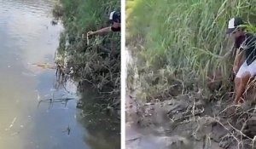
<path id="1" fill-rule="evenodd" d="M 246 36 L 243 37 L 243 39 L 244 38 L 245 40 L 243 40 L 242 43 L 242 38 L 240 38 L 239 41 L 236 41 L 236 48 L 240 45 L 241 50 L 244 50 L 247 66 L 249 66 L 254 60 L 256 60 L 256 36 L 251 33 L 246 33 Z"/>

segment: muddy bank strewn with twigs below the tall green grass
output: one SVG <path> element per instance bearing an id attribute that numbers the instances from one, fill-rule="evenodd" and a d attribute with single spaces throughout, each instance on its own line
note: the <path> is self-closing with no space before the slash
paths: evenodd
<path id="1" fill-rule="evenodd" d="M 149 103 L 127 95 L 126 148 L 253 148 L 253 101 L 230 106 L 229 94 L 209 99 L 203 90 Z"/>

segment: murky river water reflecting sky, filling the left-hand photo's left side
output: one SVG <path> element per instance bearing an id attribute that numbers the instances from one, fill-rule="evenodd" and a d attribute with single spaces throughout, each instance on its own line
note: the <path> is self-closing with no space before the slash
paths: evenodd
<path id="1" fill-rule="evenodd" d="M 77 95 L 76 83 L 58 86 L 54 69 L 33 65 L 54 65 L 63 28 L 51 26 L 53 5 L 0 0 L 0 148 L 119 148 L 118 124 L 92 106 L 95 92 Z M 79 99 L 90 100 L 89 110 L 76 108 Z"/>

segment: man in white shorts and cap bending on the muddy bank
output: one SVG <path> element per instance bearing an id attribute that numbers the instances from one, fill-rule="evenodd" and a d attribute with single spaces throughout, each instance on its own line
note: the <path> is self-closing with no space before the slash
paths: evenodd
<path id="1" fill-rule="evenodd" d="M 227 34 L 235 38 L 236 58 L 233 72 L 235 77 L 235 99 L 237 104 L 245 92 L 247 83 L 251 77 L 256 75 L 256 37 L 245 31 L 241 18 L 229 20 Z"/>

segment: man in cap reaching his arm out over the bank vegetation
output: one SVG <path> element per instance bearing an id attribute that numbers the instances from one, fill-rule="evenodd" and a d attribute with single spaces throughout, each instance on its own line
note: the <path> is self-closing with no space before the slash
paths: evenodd
<path id="1" fill-rule="evenodd" d="M 107 32 L 120 32 L 121 31 L 121 14 L 117 11 L 113 11 L 109 14 L 109 20 L 111 26 L 104 27 L 96 32 L 87 32 L 87 35 L 100 35 Z"/>

